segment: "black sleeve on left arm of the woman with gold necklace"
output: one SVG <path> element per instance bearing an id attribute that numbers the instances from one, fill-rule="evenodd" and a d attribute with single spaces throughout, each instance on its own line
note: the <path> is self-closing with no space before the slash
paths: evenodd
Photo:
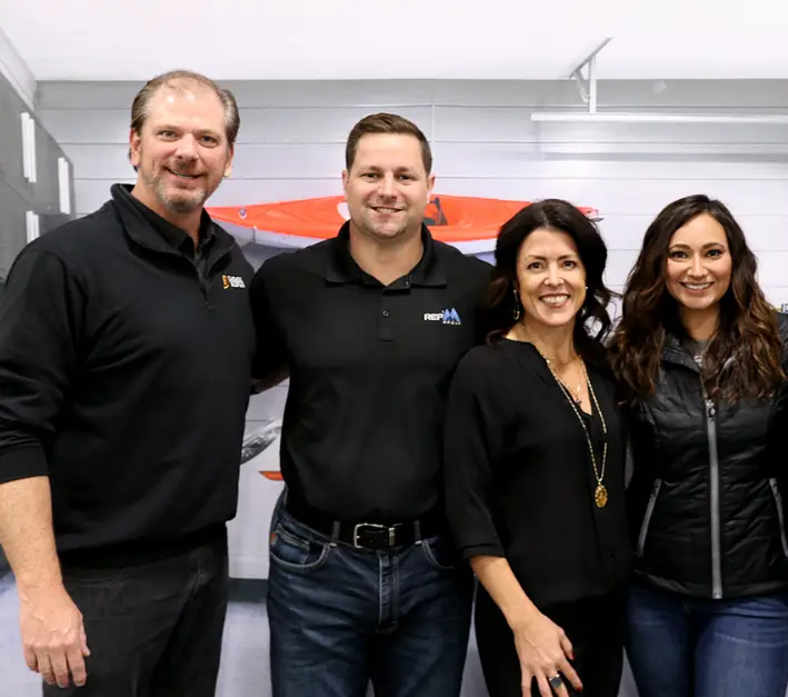
<path id="1" fill-rule="evenodd" d="M 446 508 L 455 542 L 466 559 L 506 556 L 492 509 L 492 462 L 500 448 L 502 424 L 491 399 L 483 358 L 471 350 L 460 361 L 446 415 Z"/>

